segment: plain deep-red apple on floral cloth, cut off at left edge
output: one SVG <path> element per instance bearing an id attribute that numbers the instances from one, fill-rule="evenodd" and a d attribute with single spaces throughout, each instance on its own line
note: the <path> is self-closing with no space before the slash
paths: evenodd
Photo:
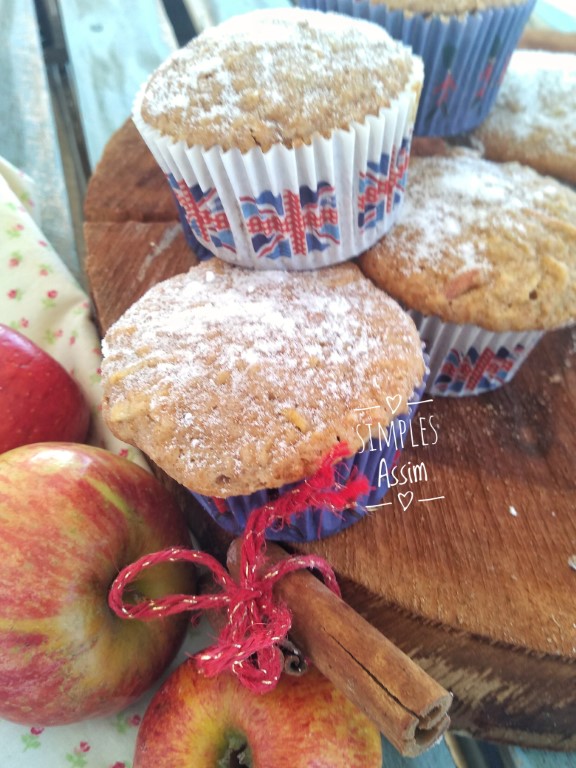
<path id="1" fill-rule="evenodd" d="M 46 440 L 83 442 L 90 409 L 70 374 L 18 331 L 0 324 L 0 453 Z"/>

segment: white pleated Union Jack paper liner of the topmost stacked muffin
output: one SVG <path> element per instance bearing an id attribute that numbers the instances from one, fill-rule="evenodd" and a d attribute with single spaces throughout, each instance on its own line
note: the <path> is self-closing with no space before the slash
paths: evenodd
<path id="1" fill-rule="evenodd" d="M 349 130 L 289 149 L 241 153 L 175 143 L 133 120 L 168 178 L 185 233 L 225 261 L 315 269 L 357 256 L 393 225 L 404 198 L 423 80 L 415 59 L 406 90 Z"/>

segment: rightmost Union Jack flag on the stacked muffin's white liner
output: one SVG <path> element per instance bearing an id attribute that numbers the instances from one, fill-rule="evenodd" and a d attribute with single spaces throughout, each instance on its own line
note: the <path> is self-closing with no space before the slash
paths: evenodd
<path id="1" fill-rule="evenodd" d="M 358 228 L 371 229 L 402 201 L 408 175 L 410 138 L 404 137 L 392 155 L 383 154 L 378 162 L 368 161 L 358 189 Z"/>

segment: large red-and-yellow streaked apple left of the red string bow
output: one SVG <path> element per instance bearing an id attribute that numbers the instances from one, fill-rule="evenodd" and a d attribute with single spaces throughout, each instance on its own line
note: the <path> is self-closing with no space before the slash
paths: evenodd
<path id="1" fill-rule="evenodd" d="M 188 617 L 118 618 L 109 588 L 142 555 L 189 543 L 172 496 L 127 459 L 79 443 L 0 456 L 0 717 L 69 723 L 143 694 L 175 656 Z M 193 586 L 190 567 L 166 563 L 132 594 Z"/>

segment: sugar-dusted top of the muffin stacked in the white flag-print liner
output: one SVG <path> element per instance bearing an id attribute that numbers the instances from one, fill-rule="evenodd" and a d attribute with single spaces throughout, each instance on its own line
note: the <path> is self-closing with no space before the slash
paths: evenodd
<path id="1" fill-rule="evenodd" d="M 266 151 L 364 122 L 422 80 L 421 60 L 376 24 L 275 8 L 193 38 L 152 74 L 134 114 L 188 146 Z"/>

